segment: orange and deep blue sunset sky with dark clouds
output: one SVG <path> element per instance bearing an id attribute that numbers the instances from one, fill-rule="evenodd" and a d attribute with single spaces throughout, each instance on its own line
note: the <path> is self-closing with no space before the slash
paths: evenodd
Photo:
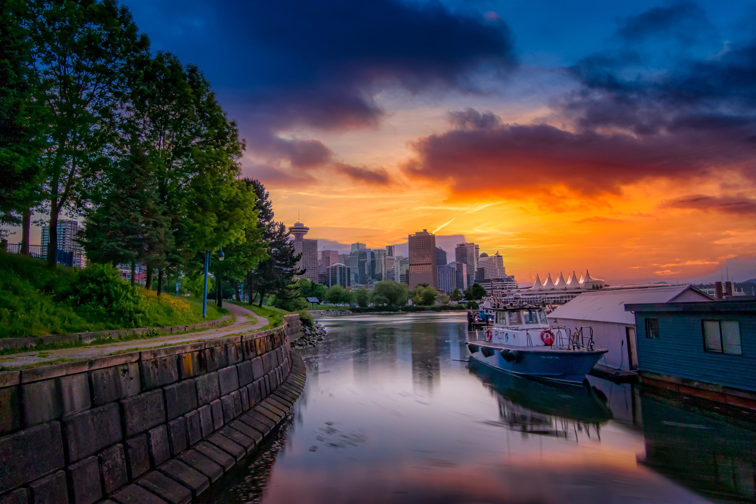
<path id="1" fill-rule="evenodd" d="M 321 249 L 427 228 L 521 285 L 756 277 L 754 4 L 125 3 Z"/>

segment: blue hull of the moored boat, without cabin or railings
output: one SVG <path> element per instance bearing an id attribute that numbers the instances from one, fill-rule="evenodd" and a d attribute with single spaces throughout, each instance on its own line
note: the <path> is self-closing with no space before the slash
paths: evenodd
<path id="1" fill-rule="evenodd" d="M 562 351 L 541 348 L 494 347 L 467 342 L 470 357 L 488 366 L 516 375 L 578 384 L 583 382 L 590 369 L 606 354 L 606 350 Z"/>

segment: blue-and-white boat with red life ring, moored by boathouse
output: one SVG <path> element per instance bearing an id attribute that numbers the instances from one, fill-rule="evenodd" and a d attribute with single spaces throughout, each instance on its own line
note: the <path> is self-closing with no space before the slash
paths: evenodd
<path id="1" fill-rule="evenodd" d="M 507 373 L 579 384 L 607 352 L 593 345 L 593 328 L 551 325 L 543 307 L 486 301 L 485 311 L 493 323 L 482 330 L 484 341 L 466 342 L 467 349 Z"/>

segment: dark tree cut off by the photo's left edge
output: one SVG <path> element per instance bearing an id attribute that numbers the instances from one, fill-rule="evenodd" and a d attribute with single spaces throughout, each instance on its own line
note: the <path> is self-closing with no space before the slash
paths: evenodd
<path id="1" fill-rule="evenodd" d="M 26 2 L 0 2 L 0 224 L 21 224 L 21 252 L 29 253 L 30 207 L 39 203 L 39 156 L 46 145 L 44 109 L 29 84 L 32 46 Z M 0 230 L 0 238 L 4 230 Z"/>

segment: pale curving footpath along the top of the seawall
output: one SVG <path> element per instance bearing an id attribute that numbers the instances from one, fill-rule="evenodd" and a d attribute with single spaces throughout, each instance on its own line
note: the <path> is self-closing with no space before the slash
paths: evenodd
<path id="1" fill-rule="evenodd" d="M 223 308 L 226 308 L 231 315 L 236 317 L 234 323 L 225 327 L 214 327 L 212 329 L 186 332 L 179 335 L 135 339 L 128 342 L 108 343 L 106 345 L 60 348 L 59 350 L 38 350 L 23 352 L 20 354 L 10 354 L 0 356 L 0 368 L 16 369 L 20 366 L 29 366 L 29 364 L 40 365 L 46 362 L 53 363 L 52 361 L 62 362 L 63 360 L 85 360 L 94 357 L 103 357 L 118 351 L 134 351 L 143 350 L 144 348 L 159 347 L 166 344 L 200 342 L 205 339 L 221 338 L 223 336 L 240 334 L 241 332 L 252 332 L 255 329 L 268 325 L 267 318 L 260 317 L 246 308 L 231 303 L 225 303 Z"/>

